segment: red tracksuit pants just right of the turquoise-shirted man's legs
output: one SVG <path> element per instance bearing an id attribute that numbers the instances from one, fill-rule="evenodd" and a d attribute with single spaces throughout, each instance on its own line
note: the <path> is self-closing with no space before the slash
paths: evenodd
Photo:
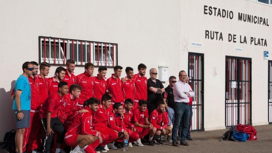
<path id="1" fill-rule="evenodd" d="M 41 146 L 42 133 L 43 125 L 40 121 L 39 112 L 30 112 L 30 126 L 26 128 L 23 136 L 23 152 L 31 152 Z"/>

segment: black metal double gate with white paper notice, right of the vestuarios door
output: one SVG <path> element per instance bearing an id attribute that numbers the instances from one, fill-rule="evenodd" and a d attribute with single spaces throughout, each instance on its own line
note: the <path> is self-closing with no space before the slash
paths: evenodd
<path id="1" fill-rule="evenodd" d="M 225 125 L 251 124 L 251 58 L 226 56 Z"/>

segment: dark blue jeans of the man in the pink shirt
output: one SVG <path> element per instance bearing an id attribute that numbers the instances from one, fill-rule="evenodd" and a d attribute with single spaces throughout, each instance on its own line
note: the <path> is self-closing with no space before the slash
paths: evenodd
<path id="1" fill-rule="evenodd" d="M 188 126 L 189 126 L 189 116 L 190 116 L 189 105 L 175 102 L 174 112 L 175 112 L 175 121 L 173 125 L 173 130 L 172 130 L 172 141 L 177 142 L 177 139 L 176 139 L 177 131 L 180 126 L 181 118 L 182 118 L 184 127 L 181 130 L 181 142 L 185 142 Z"/>

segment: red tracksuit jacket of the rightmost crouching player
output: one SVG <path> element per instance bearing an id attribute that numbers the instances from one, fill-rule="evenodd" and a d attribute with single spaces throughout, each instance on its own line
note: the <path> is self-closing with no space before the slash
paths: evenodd
<path id="1" fill-rule="evenodd" d="M 164 111 L 164 113 L 160 112 L 158 109 L 155 109 L 149 117 L 149 122 L 158 130 L 163 130 L 163 128 L 167 128 L 169 120 L 168 113 Z"/>

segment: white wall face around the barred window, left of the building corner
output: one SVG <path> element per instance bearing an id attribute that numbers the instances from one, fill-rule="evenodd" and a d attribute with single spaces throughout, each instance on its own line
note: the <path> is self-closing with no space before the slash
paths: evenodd
<path id="1" fill-rule="evenodd" d="M 38 36 L 113 42 L 118 65 L 169 66 L 177 75 L 180 50 L 180 6 L 174 1 L 9 1 L 0 0 L 0 140 L 15 128 L 11 110 L 13 80 L 25 61 L 38 62 Z M 51 67 L 52 77 L 56 66 Z M 125 70 L 123 70 L 125 71 Z M 83 72 L 76 67 L 75 74 Z M 95 75 L 97 68 L 95 69 Z M 108 70 L 107 78 L 113 70 Z M 125 76 L 125 72 L 123 72 Z M 149 77 L 149 74 L 147 74 Z M 13 83 L 11 85 L 11 82 Z"/>

